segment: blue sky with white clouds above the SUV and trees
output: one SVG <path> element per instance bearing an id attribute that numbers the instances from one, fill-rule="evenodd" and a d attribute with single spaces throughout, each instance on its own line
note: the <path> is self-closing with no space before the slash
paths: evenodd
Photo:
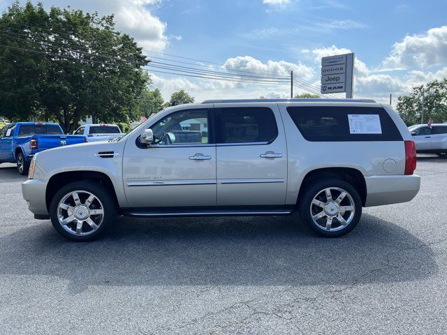
<path id="1" fill-rule="evenodd" d="M 0 0 L 0 10 L 12 3 Z M 447 1 L 328 0 L 43 0 L 114 13 L 117 28 L 150 51 L 269 75 L 295 75 L 318 86 L 319 59 L 356 53 L 356 97 L 388 101 L 447 76 Z M 179 59 L 177 59 L 179 60 Z M 197 63 L 193 61 L 193 63 Z M 203 65 L 203 64 L 200 64 Z M 153 73 L 165 98 L 185 89 L 207 98 L 287 97 L 287 85 L 241 84 Z M 301 93 L 302 89 L 296 88 Z"/>

